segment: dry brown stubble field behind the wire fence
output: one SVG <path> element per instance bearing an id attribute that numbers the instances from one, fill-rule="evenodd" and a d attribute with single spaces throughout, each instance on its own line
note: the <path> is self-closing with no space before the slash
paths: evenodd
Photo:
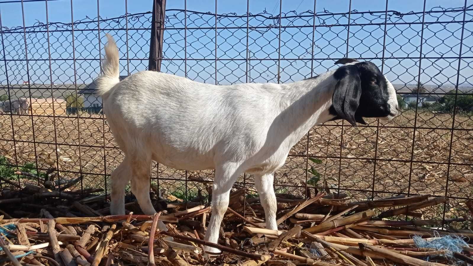
<path id="1" fill-rule="evenodd" d="M 312 177 L 306 169 L 314 167 L 321 175 L 317 186 L 326 184 L 353 200 L 398 193 L 447 195 L 450 199 L 445 206 L 446 218 L 466 212 L 464 201 L 473 198 L 470 115 L 457 114 L 453 123 L 452 115 L 434 115 L 427 110 L 415 115 L 414 111 L 405 110 L 389 123 L 375 119 L 367 122 L 368 126 L 359 127 L 347 123 L 342 126 L 342 122 L 314 127 L 291 150 L 286 165 L 276 173 L 276 190 L 304 194 L 304 182 Z M 78 186 L 84 188 L 108 189 L 106 175 L 123 159 L 106 120 L 99 115 L 0 115 L 0 123 L 0 152 L 11 164 L 31 162 L 44 169 L 59 166 L 62 174 L 70 178 L 83 173 L 84 180 Z M 322 163 L 313 163 L 307 157 Z M 201 182 L 190 180 L 213 177 L 212 171 L 191 173 L 157 164 L 153 164 L 151 175 L 159 177 L 161 189 L 178 196 L 187 191 L 188 198 L 203 189 Z M 238 182 L 251 186 L 252 177 L 242 176 Z M 442 218 L 443 207 L 423 213 L 427 219 Z"/>

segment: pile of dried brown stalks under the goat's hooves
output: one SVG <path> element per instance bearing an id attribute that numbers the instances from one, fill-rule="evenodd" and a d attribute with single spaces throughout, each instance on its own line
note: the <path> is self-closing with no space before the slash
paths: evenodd
<path id="1" fill-rule="evenodd" d="M 156 208 L 162 212 L 154 216 L 136 215 L 133 213 L 139 213 L 139 207 L 132 196 L 127 196 L 127 214 L 107 216 L 107 195 L 91 194 L 99 190 L 64 189 L 79 181 L 61 184 L 61 190 L 53 178 L 45 180 L 44 186 L 10 182 L 8 189 L 3 188 L 0 198 L 3 264 L 433 266 L 458 261 L 472 263 L 470 244 L 461 247 L 462 253 L 448 257 L 444 256 L 448 250 L 418 248 L 412 239 L 417 235 L 430 241 L 448 235 L 470 241 L 473 238 L 470 230 L 434 230 L 429 226 L 471 222 L 472 202 L 468 204 L 470 215 L 463 218 L 389 221 L 385 218 L 416 217 L 416 210 L 443 204 L 446 198 L 414 195 L 348 203 L 344 199 L 346 195 L 330 192 L 308 198 L 278 194 L 280 230 L 274 231 L 264 229 L 259 198 L 245 200 L 246 191 L 240 188 L 230 195 L 231 204 L 219 244 L 212 244 L 202 240 L 210 206 L 201 202 L 166 203 L 158 198 Z M 156 229 L 158 220 L 167 224 L 167 232 Z M 203 246 L 219 248 L 222 254 L 209 258 L 203 253 Z"/>

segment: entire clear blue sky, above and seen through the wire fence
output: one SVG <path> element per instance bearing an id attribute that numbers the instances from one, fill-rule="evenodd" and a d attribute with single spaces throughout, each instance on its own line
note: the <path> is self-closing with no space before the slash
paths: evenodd
<path id="1" fill-rule="evenodd" d="M 21 13 L 21 3 L 1 3 L 5 0 L 0 0 L 0 12 L 2 25 L 4 27 L 17 27 L 22 26 L 22 13 Z M 469 0 L 467 5 L 473 4 L 473 0 Z M 101 18 L 114 18 L 119 17 L 125 14 L 125 0 L 100 0 L 100 16 Z M 428 0 L 426 10 L 430 10 L 435 7 L 443 8 L 459 8 L 464 6 L 463 0 Z M 26 27 L 33 26 L 37 21 L 46 22 L 45 16 L 45 3 L 44 2 L 25 2 L 25 23 Z M 147 12 L 151 10 L 152 0 L 128 0 L 128 13 L 140 13 Z M 421 12 L 423 7 L 422 0 L 391 0 L 389 1 L 388 9 L 396 10 L 401 13 L 406 13 L 409 11 Z M 260 13 L 263 10 L 266 10 L 269 13 L 274 15 L 279 14 L 279 0 L 268 0 L 268 1 L 255 1 L 250 0 L 250 13 Z M 288 12 L 290 10 L 295 10 L 297 13 L 301 13 L 307 10 L 313 10 L 314 2 L 313 0 L 282 0 L 282 12 Z M 62 22 L 70 23 L 71 13 L 70 13 L 70 0 L 54 0 L 48 1 L 48 17 L 49 22 Z M 166 4 L 166 9 L 184 9 L 184 0 L 168 0 Z M 369 4 L 366 0 L 352 0 L 352 10 L 358 11 L 384 11 L 385 10 L 385 1 L 370 1 Z M 187 0 L 187 10 L 200 11 L 200 12 L 215 12 L 215 1 L 212 0 Z M 338 12 L 347 12 L 349 10 L 349 1 L 348 0 L 317 0 L 316 2 L 316 12 L 323 12 L 328 10 L 333 13 Z M 73 0 L 73 12 L 74 20 L 88 18 L 96 18 L 97 16 L 97 1 L 96 0 Z M 245 0 L 218 0 L 217 2 L 217 13 L 230 13 L 235 12 L 238 15 L 244 15 L 246 13 L 246 1 Z M 182 16 L 182 12 L 172 11 L 167 12 L 166 15 L 177 15 Z M 467 15 L 467 20 L 472 19 L 470 13 Z M 460 20 L 462 13 L 455 13 L 455 20 Z M 210 15 L 204 15 L 203 17 L 209 18 Z M 418 19 L 418 16 L 407 16 L 404 19 L 409 21 L 411 19 L 414 21 L 414 18 Z M 322 18 L 322 17 L 321 17 Z M 346 18 L 340 17 L 339 23 L 343 23 L 343 19 Z M 434 17 L 426 18 L 426 21 L 432 21 Z M 241 20 L 241 19 L 240 19 Z M 307 19 L 310 23 L 311 19 Z M 443 16 L 439 19 L 440 21 L 451 21 L 452 18 Z M 177 21 L 177 19 L 176 19 Z M 257 26 L 258 21 L 252 20 L 251 26 Z M 369 23 L 367 20 L 360 19 L 360 23 Z M 197 23 L 201 23 L 203 20 L 197 20 L 195 26 L 199 26 Z M 222 19 L 219 23 L 219 26 L 235 26 L 228 24 L 229 19 Z M 240 21 L 241 22 L 241 21 Z M 282 24 L 293 23 L 293 25 L 304 25 L 306 21 L 297 20 L 283 20 Z M 320 23 L 321 20 L 316 21 L 316 25 Z M 374 22 L 384 22 L 384 19 L 377 19 Z M 269 23 L 268 21 L 264 22 L 264 25 Z M 301 24 L 302 23 L 302 24 Z M 327 20 L 327 24 L 336 23 L 334 20 Z M 178 23 L 177 23 L 178 24 Z M 307 23 L 306 23 L 307 24 Z M 200 24 L 201 25 L 201 24 Z M 240 25 L 240 24 L 239 24 Z M 192 27 L 190 20 L 188 21 L 188 27 Z M 213 25 L 207 25 L 207 27 L 213 27 Z M 105 27 L 102 26 L 101 27 Z M 169 27 L 169 25 L 166 25 Z M 178 26 L 176 26 L 178 27 Z M 445 24 L 445 25 L 429 25 L 429 30 L 424 30 L 424 56 L 427 57 L 438 57 L 439 53 L 444 54 L 444 56 L 455 57 L 458 56 L 459 49 L 459 37 L 460 37 L 460 23 Z M 327 31 L 328 28 L 320 27 L 317 28 L 317 34 L 315 36 L 315 45 L 321 45 L 320 49 L 315 49 L 315 58 L 337 58 L 342 57 L 346 52 L 346 44 L 344 41 L 346 39 L 346 29 L 339 27 L 340 30 L 337 30 L 336 27 L 333 27 L 333 31 Z M 472 56 L 471 44 L 473 43 L 473 37 L 471 32 L 473 29 L 473 22 L 466 23 L 465 25 L 465 36 L 464 36 L 464 53 L 463 56 Z M 397 32 L 403 32 L 404 37 L 396 37 Z M 293 80 L 300 80 L 304 77 L 310 76 L 311 72 L 311 63 L 310 61 L 296 62 L 286 59 L 291 58 L 310 58 L 310 53 L 307 54 L 307 49 L 311 47 L 311 31 L 312 28 L 304 28 L 302 30 L 298 29 L 287 29 L 281 33 L 281 77 L 282 82 L 289 82 Z M 384 26 L 364 26 L 361 27 L 352 26 L 350 29 L 350 44 L 354 48 L 350 47 L 349 57 L 381 57 L 382 55 L 382 36 L 384 32 Z M 451 32 L 454 32 L 453 34 Z M 126 55 L 126 46 L 124 46 L 124 31 L 115 31 L 111 32 L 114 34 L 114 37 L 121 47 L 121 53 L 123 56 Z M 266 61 L 254 60 L 251 62 L 250 73 L 252 78 L 250 81 L 254 82 L 277 82 L 277 29 L 272 29 L 266 33 L 259 32 L 250 32 L 252 39 L 250 39 L 249 48 L 254 52 L 254 59 L 273 59 Z M 386 39 L 386 54 L 387 58 L 385 61 L 385 73 L 390 80 L 394 80 L 393 83 L 415 83 L 418 76 L 419 66 L 417 64 L 418 60 L 415 59 L 389 59 L 390 57 L 412 57 L 418 58 L 419 51 L 418 46 L 420 45 L 420 25 L 401 25 L 397 27 L 388 26 L 388 33 L 392 38 Z M 416 35 L 419 33 L 419 35 Z M 130 34 L 133 36 L 141 35 L 139 40 L 130 38 L 129 44 L 130 49 L 129 53 L 130 58 L 145 58 L 146 53 L 149 50 L 149 46 L 146 43 L 146 38 L 149 36 L 149 32 L 137 33 L 136 31 Z M 218 51 L 217 57 L 219 59 L 228 59 L 228 58 L 245 58 L 246 53 L 246 40 L 245 40 L 245 30 L 222 30 L 219 31 L 219 37 L 217 39 Z M 13 39 L 7 37 L 8 34 L 5 34 L 5 46 L 9 45 L 8 42 L 13 42 Z M 79 34 L 77 34 L 79 35 Z M 104 32 L 101 33 L 102 37 L 105 35 Z M 183 53 L 183 31 L 169 30 L 165 34 L 165 56 L 168 58 L 184 58 Z M 22 37 L 22 35 L 18 35 Z M 175 41 L 171 42 L 172 40 Z M 188 30 L 188 48 L 187 57 L 193 58 L 206 58 L 211 59 L 215 58 L 214 54 L 214 36 L 215 32 L 213 30 Z M 96 40 L 87 40 L 92 37 L 90 35 L 85 36 L 76 36 L 76 58 L 81 58 L 82 54 L 84 58 L 98 57 L 98 42 Z M 309 38 L 308 38 L 309 37 Z M 13 37 L 12 37 L 13 38 Z M 65 52 L 71 53 L 71 43 L 68 37 L 64 37 L 66 42 L 62 42 L 62 47 L 57 44 L 53 44 L 52 57 L 64 58 L 64 53 L 57 52 L 56 50 L 64 49 Z M 228 40 L 225 40 L 227 39 Z M 266 41 L 264 38 L 270 39 Z M 320 38 L 325 38 L 327 40 L 322 40 Z M 20 38 L 21 39 L 21 38 Z M 61 38 L 59 38 L 61 39 Z M 253 41 L 255 39 L 255 41 Z M 320 42 L 317 40 L 320 39 Z M 21 39 L 22 40 L 22 39 Z M 21 45 L 21 40 L 18 45 Z M 79 47 L 82 41 L 87 40 L 89 44 Z M 104 39 L 102 39 L 104 42 Z M 204 44 L 201 44 L 204 43 Z M 167 44 L 167 46 L 166 46 Z M 192 44 L 192 45 L 191 45 Z M 270 45 L 267 45 L 270 44 Z M 330 44 L 328 47 L 326 44 Z M 13 45 L 13 44 L 12 44 Z M 55 46 L 56 45 L 56 46 Z M 325 46 L 324 46 L 325 45 Z M 65 46 L 65 48 L 64 48 Z M 140 48 L 140 46 L 142 48 Z M 191 47 L 192 46 L 192 47 Z M 205 46 L 210 46 L 205 47 Z M 264 48 L 261 48 L 264 46 Z M 448 47 L 453 47 L 451 50 Z M 19 47 L 19 46 L 18 46 Z M 58 48 L 59 47 L 59 48 Z M 37 54 L 43 53 L 41 58 L 44 58 L 44 52 L 47 51 L 47 45 L 45 45 L 45 39 L 38 40 L 37 43 L 29 43 L 28 50 L 31 49 L 31 54 L 29 58 L 35 58 Z M 143 52 L 140 51 L 143 50 Z M 23 50 L 21 47 L 15 48 L 11 46 L 6 52 L 6 57 L 11 56 L 12 59 L 24 57 L 24 47 Z M 16 51 L 15 51 L 16 50 Z M 43 52 L 38 52 L 42 50 Z M 36 51 L 36 52 L 35 52 Z M 13 53 L 18 53 L 16 56 L 12 55 Z M 191 54 L 193 53 L 193 54 Z M 47 59 L 47 53 L 46 53 Z M 381 60 L 372 60 L 381 67 Z M 473 83 L 473 78 L 471 69 L 472 59 L 462 60 L 462 69 L 460 78 L 460 84 L 468 85 Z M 3 63 L 3 62 L 2 62 Z M 25 65 L 18 65 L 16 62 L 9 62 L 7 69 L 10 69 L 9 80 L 10 83 L 20 82 L 21 80 L 26 80 L 26 69 Z M 128 62 L 128 66 L 131 65 L 130 71 L 140 71 L 144 70 L 147 61 L 133 61 Z M 208 61 L 187 61 L 187 75 L 189 78 L 194 80 L 199 80 L 202 82 L 215 83 L 215 62 L 212 60 Z M 122 74 L 127 74 L 127 61 L 123 60 L 122 62 Z M 173 61 L 173 62 L 163 62 L 164 68 L 163 71 L 175 73 L 177 75 L 184 76 L 184 61 Z M 427 84 L 438 84 L 443 86 L 452 86 L 456 82 L 456 71 L 457 71 L 458 61 L 456 59 L 440 59 L 440 60 L 422 60 L 422 75 L 421 81 Z M 44 62 L 31 62 L 30 72 L 32 75 L 32 80 L 41 80 L 44 83 L 49 83 L 49 63 Z M 98 61 L 77 61 L 77 74 L 79 83 L 80 82 L 89 82 L 98 74 Z M 245 62 L 244 61 L 219 61 L 217 63 L 217 81 L 219 84 L 229 84 L 235 82 L 245 82 Z M 320 73 L 326 71 L 327 69 L 333 68 L 333 60 L 319 60 L 314 63 L 313 73 Z M 5 68 L 2 66 L 0 70 L 0 80 L 4 84 L 5 77 Z M 71 71 L 71 62 L 65 61 L 62 62 L 53 62 L 53 83 L 71 83 L 73 81 L 73 71 Z"/>

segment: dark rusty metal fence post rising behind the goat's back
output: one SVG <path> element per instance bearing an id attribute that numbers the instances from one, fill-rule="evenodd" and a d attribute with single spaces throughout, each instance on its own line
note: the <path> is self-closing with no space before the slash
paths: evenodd
<path id="1" fill-rule="evenodd" d="M 161 71 L 163 57 L 164 15 L 166 0 L 153 0 L 153 14 L 151 18 L 151 39 L 149 40 L 148 70 Z"/>

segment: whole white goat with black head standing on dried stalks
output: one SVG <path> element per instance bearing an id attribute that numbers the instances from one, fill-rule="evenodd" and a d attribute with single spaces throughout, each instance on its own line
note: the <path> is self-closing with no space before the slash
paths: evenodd
<path id="1" fill-rule="evenodd" d="M 124 191 L 131 179 L 141 210 L 155 213 L 149 198 L 152 160 L 176 169 L 215 169 L 205 235 L 213 243 L 230 189 L 242 173 L 254 175 L 266 227 L 276 230 L 273 173 L 314 125 L 345 119 L 356 126 L 366 124 L 363 117 L 397 115 L 394 87 L 372 62 L 343 59 L 336 70 L 287 84 L 216 86 L 156 71 L 120 81 L 118 48 L 111 35 L 107 38 L 97 89 L 125 154 L 111 175 L 110 212 L 125 213 Z M 159 229 L 166 230 L 162 222 Z"/>

